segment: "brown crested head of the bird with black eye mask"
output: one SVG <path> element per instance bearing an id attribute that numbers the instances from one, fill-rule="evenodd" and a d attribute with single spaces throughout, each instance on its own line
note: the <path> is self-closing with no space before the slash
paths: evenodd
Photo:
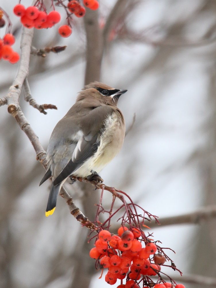
<path id="1" fill-rule="evenodd" d="M 119 97 L 128 90 L 114 89 L 106 84 L 100 82 L 92 82 L 84 87 L 79 93 L 77 101 L 88 99 L 97 100 L 100 103 L 116 106 Z"/>

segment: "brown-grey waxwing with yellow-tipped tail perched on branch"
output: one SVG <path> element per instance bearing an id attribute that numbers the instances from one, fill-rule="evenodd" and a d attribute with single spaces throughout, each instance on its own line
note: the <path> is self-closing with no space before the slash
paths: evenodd
<path id="1" fill-rule="evenodd" d="M 55 211 L 67 177 L 103 181 L 98 173 L 119 153 L 124 142 L 125 120 L 117 103 L 127 91 L 91 82 L 56 124 L 47 147 L 48 168 L 39 184 L 52 176 L 46 216 Z"/>

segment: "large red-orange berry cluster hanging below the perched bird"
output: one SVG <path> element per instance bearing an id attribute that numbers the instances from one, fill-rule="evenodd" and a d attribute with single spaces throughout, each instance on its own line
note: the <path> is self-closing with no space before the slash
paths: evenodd
<path id="1" fill-rule="evenodd" d="M 90 250 L 90 257 L 99 259 L 100 266 L 108 268 L 105 281 L 113 285 L 117 279 L 121 281 L 126 278 L 126 283 L 117 288 L 139 288 L 138 281 L 143 276 L 155 276 L 166 258 L 157 252 L 157 246 L 153 242 L 146 243 L 142 248 L 139 240 L 141 232 L 139 229 L 121 226 L 118 235 L 111 235 L 107 230 L 99 232 L 99 239 L 95 242 L 95 247 Z M 119 253 L 118 251 L 121 251 Z M 154 255 L 153 259 L 150 259 Z M 153 261 L 152 261 L 153 260 Z M 141 278 L 141 280 L 142 280 Z M 147 287 L 147 286 L 144 286 Z M 158 283 L 154 288 L 174 287 L 171 283 Z M 175 288 L 185 288 L 178 284 Z"/>

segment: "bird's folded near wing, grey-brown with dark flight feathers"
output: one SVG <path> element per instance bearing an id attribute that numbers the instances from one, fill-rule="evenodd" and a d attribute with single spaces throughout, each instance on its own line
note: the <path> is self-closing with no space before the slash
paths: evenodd
<path id="1" fill-rule="evenodd" d="M 82 164 L 90 158 L 100 145 L 100 135 L 104 129 L 104 120 L 111 115 L 111 107 L 97 107 L 83 116 L 84 125 L 80 125 L 80 138 L 73 151 L 72 157 L 63 170 L 53 180 L 53 185 L 58 185 L 65 178 L 72 175 Z M 83 126 L 83 127 L 82 127 Z M 79 134 L 79 133 L 78 133 Z"/>

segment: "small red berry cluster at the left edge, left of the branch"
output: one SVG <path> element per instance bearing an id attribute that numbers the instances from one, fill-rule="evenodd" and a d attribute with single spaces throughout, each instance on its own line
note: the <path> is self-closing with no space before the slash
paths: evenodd
<path id="1" fill-rule="evenodd" d="M 12 34 L 5 34 L 3 39 L 0 39 L 0 59 L 9 61 L 11 64 L 15 64 L 19 61 L 20 55 L 13 51 L 11 45 L 15 43 L 15 38 Z"/>

